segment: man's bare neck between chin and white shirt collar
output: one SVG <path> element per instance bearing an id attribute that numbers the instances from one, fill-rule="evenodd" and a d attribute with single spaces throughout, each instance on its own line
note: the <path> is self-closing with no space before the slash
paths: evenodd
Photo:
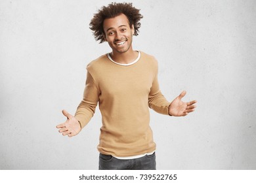
<path id="1" fill-rule="evenodd" d="M 129 50 L 124 53 L 119 53 L 119 52 L 114 52 L 114 50 L 113 50 L 112 53 L 110 54 L 110 56 L 117 63 L 129 64 L 129 63 L 135 61 L 135 59 L 137 59 L 138 52 L 135 50 Z"/>

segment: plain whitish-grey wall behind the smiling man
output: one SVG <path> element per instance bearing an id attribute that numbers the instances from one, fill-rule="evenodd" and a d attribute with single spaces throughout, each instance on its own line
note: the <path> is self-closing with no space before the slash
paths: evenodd
<path id="1" fill-rule="evenodd" d="M 89 29 L 111 2 L 0 1 L 0 169 L 98 169 L 99 110 L 76 137 L 55 126 L 111 51 Z M 158 59 L 165 97 L 198 100 L 183 118 L 151 110 L 157 168 L 256 169 L 256 1 L 129 2 L 144 15 L 133 47 Z"/>

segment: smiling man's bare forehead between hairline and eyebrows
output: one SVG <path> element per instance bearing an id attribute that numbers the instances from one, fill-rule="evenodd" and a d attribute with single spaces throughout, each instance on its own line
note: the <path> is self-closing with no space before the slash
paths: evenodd
<path id="1" fill-rule="evenodd" d="M 125 14 L 119 14 L 114 18 L 106 18 L 103 22 L 103 29 L 104 31 L 110 28 L 117 29 L 121 25 L 129 26 L 129 20 Z"/>

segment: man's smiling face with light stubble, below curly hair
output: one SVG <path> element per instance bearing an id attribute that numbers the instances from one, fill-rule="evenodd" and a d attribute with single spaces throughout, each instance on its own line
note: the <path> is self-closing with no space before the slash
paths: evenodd
<path id="1" fill-rule="evenodd" d="M 129 20 L 124 14 L 115 18 L 107 18 L 103 22 L 105 40 L 113 52 L 125 53 L 132 50 L 134 27 L 130 27 Z"/>

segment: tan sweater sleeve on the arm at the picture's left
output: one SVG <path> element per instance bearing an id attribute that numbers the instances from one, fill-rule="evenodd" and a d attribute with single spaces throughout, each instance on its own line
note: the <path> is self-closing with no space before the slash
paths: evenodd
<path id="1" fill-rule="evenodd" d="M 83 100 L 75 112 L 75 118 L 81 123 L 82 128 L 88 124 L 93 117 L 93 114 L 95 114 L 95 108 L 98 103 L 98 95 L 98 88 L 93 80 L 93 77 L 87 71 Z"/>

